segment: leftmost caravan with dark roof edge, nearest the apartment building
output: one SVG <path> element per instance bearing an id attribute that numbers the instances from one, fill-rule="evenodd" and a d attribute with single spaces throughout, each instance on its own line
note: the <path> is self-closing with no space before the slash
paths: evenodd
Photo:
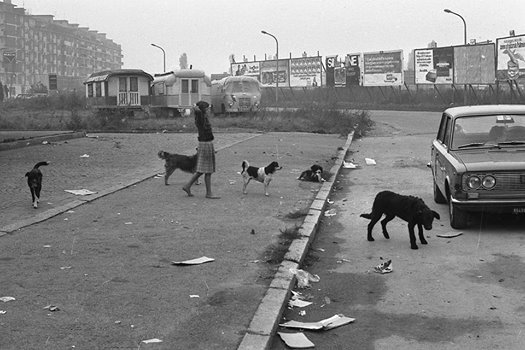
<path id="1" fill-rule="evenodd" d="M 143 109 L 150 103 L 153 77 L 140 69 L 115 69 L 91 74 L 84 85 L 88 107 Z"/>

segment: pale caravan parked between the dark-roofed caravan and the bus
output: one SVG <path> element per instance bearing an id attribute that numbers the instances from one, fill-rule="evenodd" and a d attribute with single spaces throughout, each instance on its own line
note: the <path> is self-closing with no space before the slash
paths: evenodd
<path id="1" fill-rule="evenodd" d="M 204 71 L 180 69 L 155 74 L 151 83 L 151 108 L 180 114 L 198 101 L 211 103 L 211 80 Z"/>

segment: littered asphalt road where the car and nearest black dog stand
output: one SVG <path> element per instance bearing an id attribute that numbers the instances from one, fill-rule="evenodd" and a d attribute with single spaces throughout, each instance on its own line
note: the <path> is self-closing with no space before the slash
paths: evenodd
<path id="1" fill-rule="evenodd" d="M 303 264 L 320 281 L 295 289 L 313 304 L 287 309 L 281 320 L 355 318 L 329 331 L 304 331 L 316 349 L 525 349 L 525 220 L 478 216 L 468 229 L 450 228 L 446 205 L 433 202 L 426 167 L 439 117 L 374 112 L 377 128 L 352 143 L 346 158 L 359 168 L 341 171 L 328 208 L 336 215 L 323 217 Z M 440 213 L 425 234 L 428 245 L 411 250 L 407 225 L 397 218 L 388 224 L 390 240 L 379 224 L 375 242 L 366 240 L 368 220 L 359 215 L 382 190 L 416 195 Z M 390 259 L 391 273 L 373 272 Z M 271 349 L 286 348 L 275 336 Z"/>

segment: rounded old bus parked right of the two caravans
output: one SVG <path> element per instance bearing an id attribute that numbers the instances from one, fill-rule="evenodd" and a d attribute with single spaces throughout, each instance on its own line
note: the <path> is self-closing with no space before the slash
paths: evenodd
<path id="1" fill-rule="evenodd" d="M 261 107 L 261 84 L 249 76 L 230 76 L 211 84 L 215 114 L 257 112 Z"/>

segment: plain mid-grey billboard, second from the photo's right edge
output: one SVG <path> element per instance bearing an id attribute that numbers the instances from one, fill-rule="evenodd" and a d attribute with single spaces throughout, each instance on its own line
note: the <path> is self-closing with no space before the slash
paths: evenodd
<path id="1" fill-rule="evenodd" d="M 455 84 L 494 84 L 494 44 L 454 47 Z"/>

